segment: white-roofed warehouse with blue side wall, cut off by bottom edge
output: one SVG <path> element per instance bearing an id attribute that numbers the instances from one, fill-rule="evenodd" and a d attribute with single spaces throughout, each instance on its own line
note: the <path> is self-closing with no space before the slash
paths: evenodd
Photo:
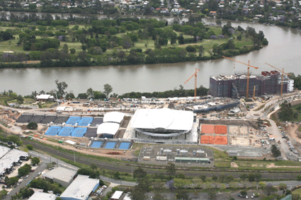
<path id="1" fill-rule="evenodd" d="M 99 187 L 99 180 L 78 175 L 72 184 L 59 196 L 62 200 L 86 200 Z"/>

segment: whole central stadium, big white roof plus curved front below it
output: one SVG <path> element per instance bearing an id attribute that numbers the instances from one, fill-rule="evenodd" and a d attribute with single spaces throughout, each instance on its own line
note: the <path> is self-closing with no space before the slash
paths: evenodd
<path id="1" fill-rule="evenodd" d="M 188 134 L 193 127 L 193 112 L 184 110 L 140 109 L 132 117 L 137 133 L 154 138 L 172 138 Z"/>

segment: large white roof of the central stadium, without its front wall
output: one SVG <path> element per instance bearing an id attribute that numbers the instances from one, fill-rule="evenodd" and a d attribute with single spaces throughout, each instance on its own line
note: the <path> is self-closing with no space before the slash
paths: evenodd
<path id="1" fill-rule="evenodd" d="M 193 112 L 184 110 L 140 109 L 132 117 L 132 128 L 191 130 L 193 127 Z"/>

